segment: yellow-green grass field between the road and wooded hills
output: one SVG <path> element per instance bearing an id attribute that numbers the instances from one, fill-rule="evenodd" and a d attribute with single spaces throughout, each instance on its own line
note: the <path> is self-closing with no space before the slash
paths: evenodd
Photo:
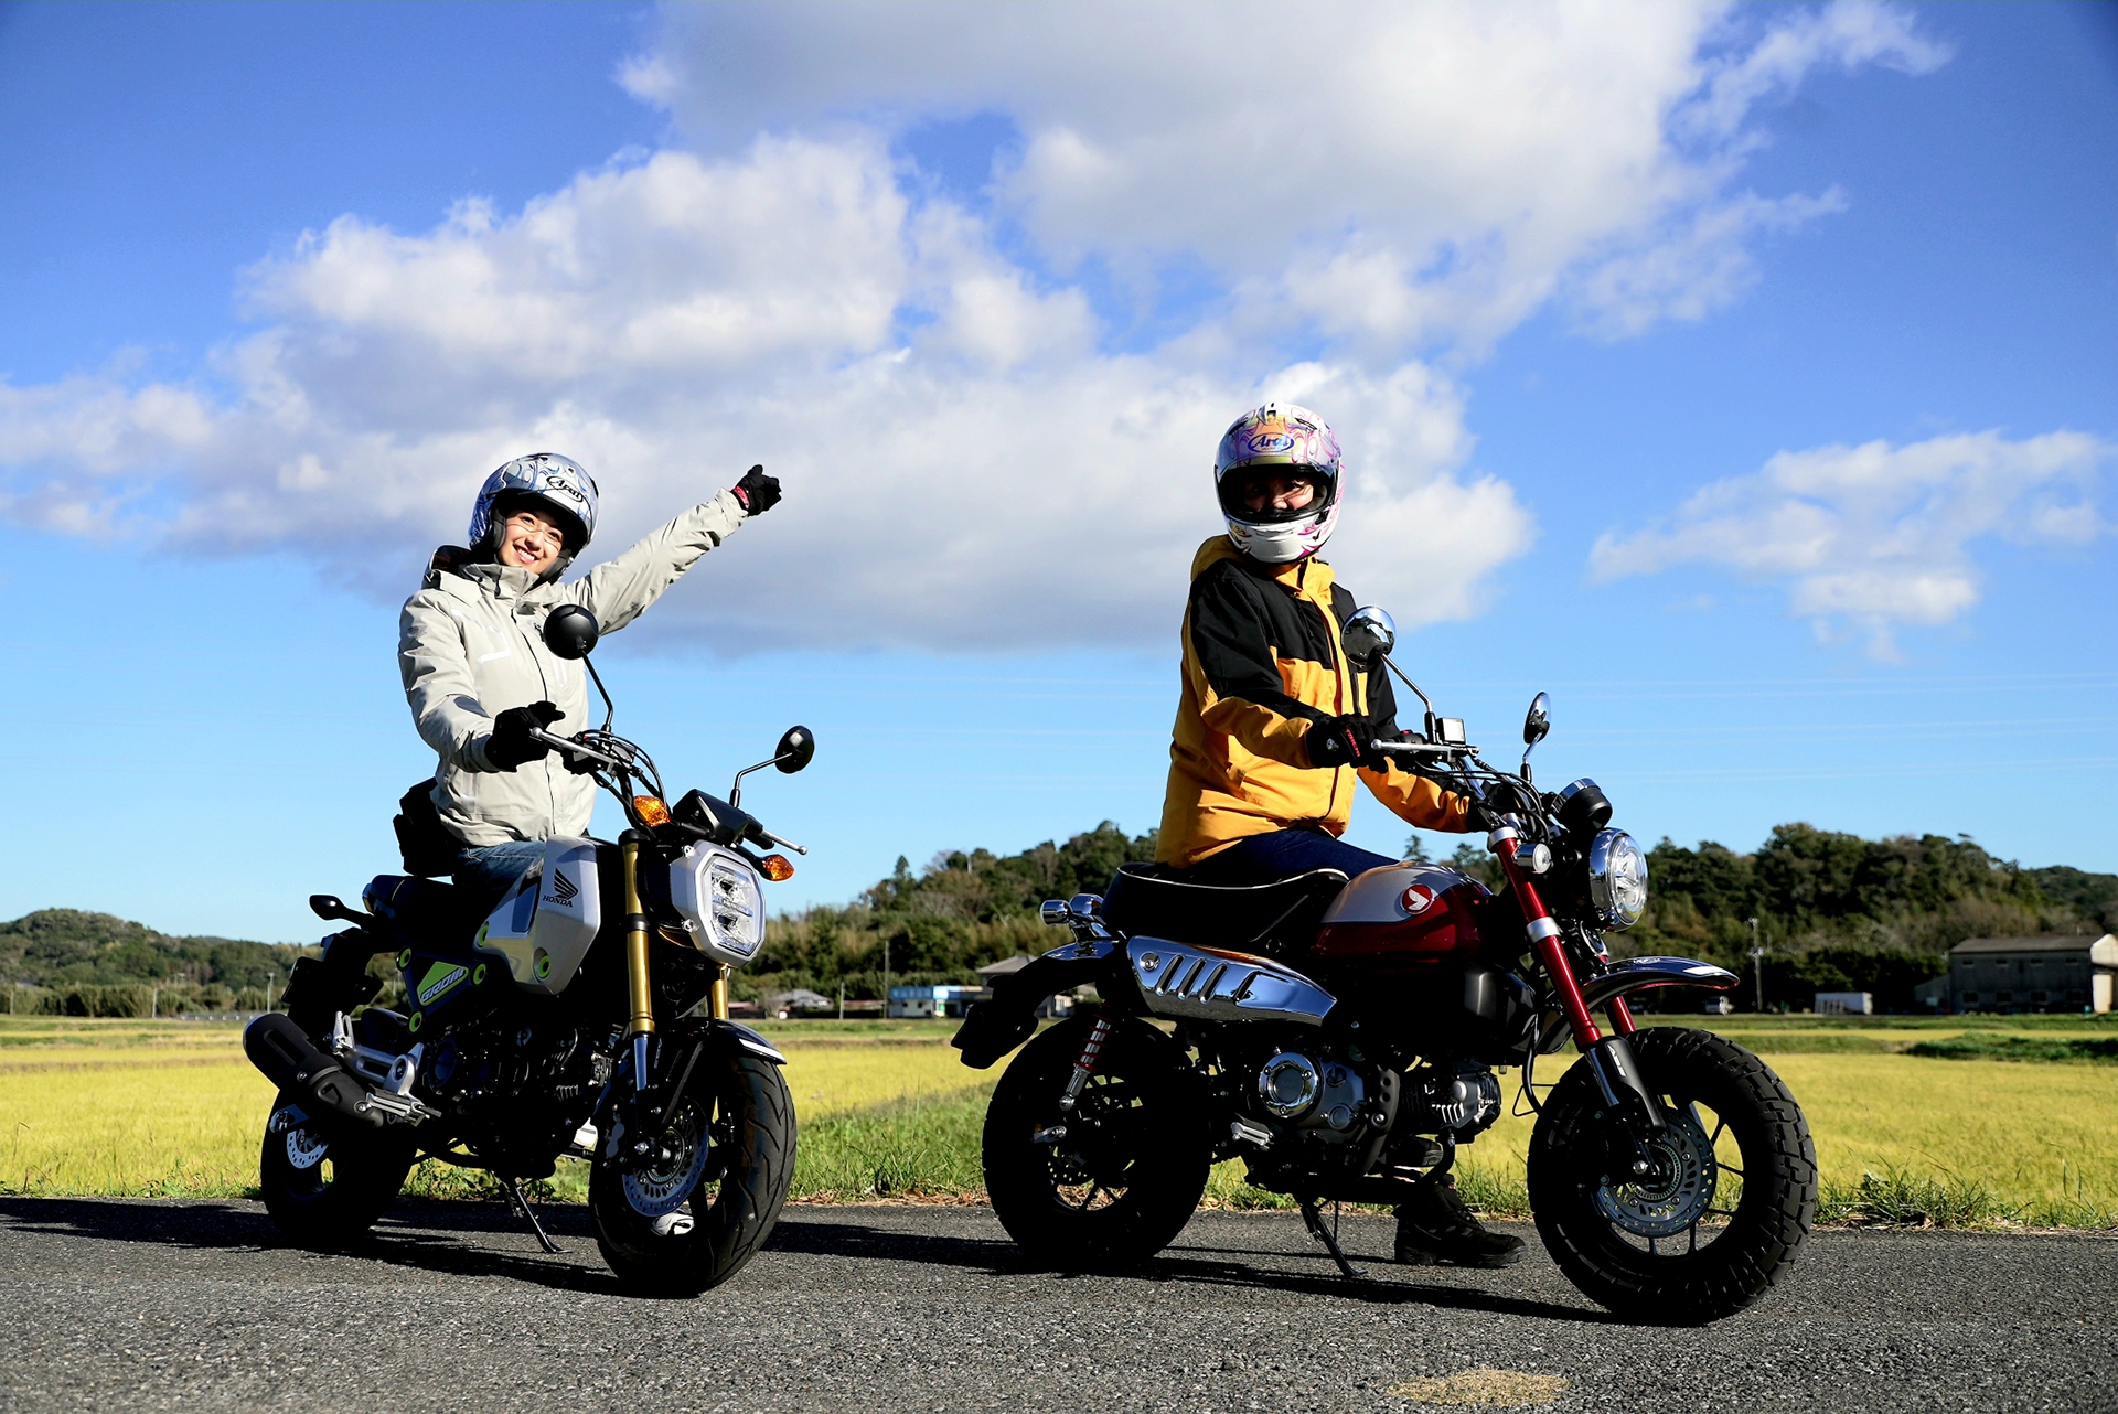
<path id="1" fill-rule="evenodd" d="M 1690 1025 L 1688 1020 L 1684 1025 Z M 2118 1228 L 2118 1039 L 2110 1018 L 1713 1018 L 1760 1052 L 1809 1113 L 1826 1219 Z M 979 1194 L 979 1126 L 998 1080 L 968 1071 L 947 1022 L 782 1022 L 801 1113 L 805 1200 L 964 1200 Z M 1940 1054 L 1906 1054 L 1908 1048 Z M 1993 1058 L 2014 1056 L 2025 1058 Z M 2052 1058 L 2052 1056 L 2084 1058 Z M 1963 1056 L 1963 1058 L 1957 1058 Z M 1565 1056 L 1540 1063 L 1557 1080 Z M 1510 1101 L 1514 1077 L 1504 1075 Z M 239 1196 L 256 1183 L 271 1092 L 214 1022 L 0 1018 L 0 1192 Z M 1531 1120 L 1508 1116 L 1464 1149 L 1466 1194 L 1523 1211 Z M 580 1196 L 561 1164 L 555 1196 Z M 424 1166 L 415 1192 L 481 1194 L 477 1175 Z M 1279 1207 L 1222 1164 L 1207 1200 Z"/>

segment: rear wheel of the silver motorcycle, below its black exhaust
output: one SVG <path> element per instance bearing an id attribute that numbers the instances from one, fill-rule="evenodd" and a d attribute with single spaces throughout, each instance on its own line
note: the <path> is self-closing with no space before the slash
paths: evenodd
<path id="1" fill-rule="evenodd" d="M 294 1105 L 280 1094 L 273 1113 Z M 265 1126 L 258 1188 L 280 1236 L 311 1251 L 341 1251 L 366 1236 L 405 1188 L 417 1143 L 409 1126 L 339 1128 L 309 1124 L 284 1135 Z"/>

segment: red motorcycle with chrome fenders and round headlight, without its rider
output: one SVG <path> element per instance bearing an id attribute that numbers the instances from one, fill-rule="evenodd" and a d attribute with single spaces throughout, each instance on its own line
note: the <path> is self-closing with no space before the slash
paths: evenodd
<path id="1" fill-rule="evenodd" d="M 1042 1262 L 1123 1268 L 1178 1236 L 1216 1162 L 1243 1158 L 1356 1276 L 1317 1204 L 1411 1200 L 1500 1118 L 1495 1069 L 1521 1067 L 1519 1103 L 1538 1113 L 1529 1202 L 1567 1279 L 1661 1323 L 1752 1304 L 1815 1217 L 1809 1124 L 1758 1056 L 1641 1029 L 1627 1005 L 1737 976 L 1612 959 L 1603 933 L 1646 908 L 1646 855 L 1608 828 L 1595 781 L 1536 787 L 1546 694 L 1521 766 L 1497 771 L 1389 663 L 1394 643 L 1381 610 L 1345 624 L 1347 654 L 1425 705 L 1423 732 L 1377 745 L 1478 802 L 1502 891 L 1415 862 L 1233 889 L 1129 864 L 1101 898 L 1044 904 L 1072 942 L 1004 978 L 955 1035 L 976 1069 L 1029 1041 L 985 1118 L 993 1211 Z M 1080 984 L 1101 1003 L 1029 1039 L 1038 1003 Z M 1580 1060 L 1540 1099 L 1538 1060 L 1569 1039 Z"/>

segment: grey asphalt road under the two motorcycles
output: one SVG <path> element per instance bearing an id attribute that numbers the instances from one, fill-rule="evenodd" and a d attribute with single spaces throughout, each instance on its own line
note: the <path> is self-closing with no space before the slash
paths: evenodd
<path id="1" fill-rule="evenodd" d="M 987 1209 L 790 1209 L 697 1302 L 616 1295 L 582 1209 L 405 1204 L 358 1255 L 254 1202 L 0 1198 L 0 1410 L 1417 1410 L 1476 1367 L 1548 1410 L 2118 1410 L 2118 1240 L 1821 1232 L 1707 1329 L 1625 1325 L 1531 1240 L 1341 1281 L 1286 1215 L 1135 1279 L 1025 1270 Z M 1347 1217 L 1358 1253 L 1387 1219 Z"/>

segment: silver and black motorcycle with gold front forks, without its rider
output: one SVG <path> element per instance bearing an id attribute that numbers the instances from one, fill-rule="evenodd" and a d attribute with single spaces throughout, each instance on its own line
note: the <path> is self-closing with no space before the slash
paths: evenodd
<path id="1" fill-rule="evenodd" d="M 578 605 L 544 622 L 561 658 L 587 663 L 595 637 Z M 726 800 L 695 790 L 671 806 L 648 754 L 610 730 L 587 667 L 604 726 L 536 735 L 625 806 L 616 845 L 549 840 L 491 910 L 398 874 L 366 887 L 364 910 L 309 900 L 354 927 L 297 963 L 284 1014 L 244 1033 L 280 1088 L 261 1185 L 288 1238 L 358 1238 L 434 1158 L 489 1168 L 557 1251 L 521 1181 L 574 1156 L 593 1162 L 595 1240 L 631 1289 L 697 1293 L 765 1245 L 794 1175 L 794 1103 L 784 1056 L 729 1020 L 729 972 L 765 942 L 760 876 L 794 872 L 756 851 L 807 851 L 741 809 L 741 781 L 801 771 L 815 739 L 790 728 Z M 358 1010 L 381 986 L 366 976 L 377 953 L 394 955 L 405 1012 Z"/>

